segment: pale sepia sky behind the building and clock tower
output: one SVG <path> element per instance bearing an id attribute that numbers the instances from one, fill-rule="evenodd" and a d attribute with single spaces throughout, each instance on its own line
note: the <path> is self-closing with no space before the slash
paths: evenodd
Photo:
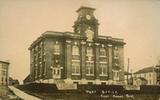
<path id="1" fill-rule="evenodd" d="M 30 71 L 31 43 L 42 33 L 73 31 L 80 6 L 96 8 L 99 34 L 123 38 L 125 68 L 133 72 L 160 60 L 160 0 L 0 0 L 0 60 L 22 81 Z"/>

